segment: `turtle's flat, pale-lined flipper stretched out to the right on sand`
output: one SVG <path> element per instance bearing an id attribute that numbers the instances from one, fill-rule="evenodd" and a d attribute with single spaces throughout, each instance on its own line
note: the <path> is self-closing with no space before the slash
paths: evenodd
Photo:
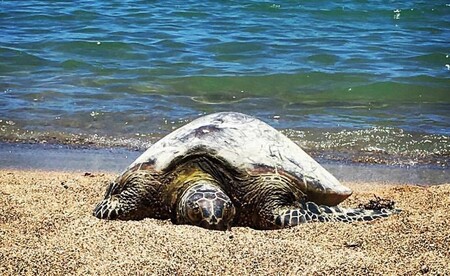
<path id="1" fill-rule="evenodd" d="M 317 205 L 314 202 L 300 204 L 300 208 L 281 208 L 275 214 L 275 225 L 280 228 L 295 226 L 305 222 L 354 222 L 371 221 L 399 213 L 398 209 L 351 209 L 338 206 Z"/>

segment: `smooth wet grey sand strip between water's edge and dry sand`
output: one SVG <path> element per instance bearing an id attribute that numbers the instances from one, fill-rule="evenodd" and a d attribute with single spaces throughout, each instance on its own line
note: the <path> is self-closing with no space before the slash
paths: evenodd
<path id="1" fill-rule="evenodd" d="M 120 173 L 145 150 L 121 147 L 0 142 L 0 169 Z M 436 185 L 449 182 L 450 168 L 430 165 L 359 164 L 315 158 L 344 182 Z"/>

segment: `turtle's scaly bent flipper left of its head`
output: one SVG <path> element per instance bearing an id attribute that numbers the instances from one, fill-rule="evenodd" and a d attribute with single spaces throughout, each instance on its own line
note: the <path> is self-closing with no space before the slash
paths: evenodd
<path id="1" fill-rule="evenodd" d="M 111 183 L 93 215 L 99 219 L 167 218 L 167 208 L 160 206 L 161 183 L 146 171 L 134 171 Z"/>

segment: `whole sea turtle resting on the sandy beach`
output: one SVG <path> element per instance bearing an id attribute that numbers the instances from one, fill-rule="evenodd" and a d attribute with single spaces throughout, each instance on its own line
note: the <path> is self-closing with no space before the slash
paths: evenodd
<path id="1" fill-rule="evenodd" d="M 172 219 L 226 230 L 372 220 L 392 210 L 336 206 L 352 191 L 268 124 L 214 113 L 168 134 L 107 188 L 103 219 Z"/>

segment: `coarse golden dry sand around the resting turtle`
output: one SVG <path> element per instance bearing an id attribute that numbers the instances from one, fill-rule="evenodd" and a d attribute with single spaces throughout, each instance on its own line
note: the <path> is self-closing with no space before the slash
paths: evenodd
<path id="1" fill-rule="evenodd" d="M 0 275 L 450 275 L 450 184 L 344 183 L 403 212 L 373 222 L 208 231 L 91 215 L 112 174 L 0 170 Z"/>

